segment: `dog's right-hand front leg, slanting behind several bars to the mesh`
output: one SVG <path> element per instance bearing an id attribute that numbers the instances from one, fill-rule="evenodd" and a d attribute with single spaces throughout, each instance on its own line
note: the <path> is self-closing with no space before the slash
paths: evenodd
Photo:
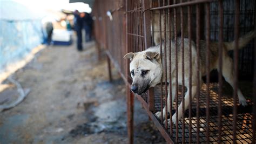
<path id="1" fill-rule="evenodd" d="M 196 92 L 197 92 L 197 86 L 192 85 L 191 90 L 192 90 L 191 91 L 191 98 L 193 100 L 194 99 L 194 95 L 196 95 Z M 187 88 L 187 92 L 186 92 L 186 95 L 185 95 L 185 98 L 184 98 L 184 101 L 185 101 L 184 108 L 185 108 L 185 110 L 187 109 L 187 106 L 190 103 L 190 101 L 189 101 L 189 93 L 190 93 L 190 90 L 189 90 L 189 88 Z M 183 112 L 183 107 L 182 107 L 182 105 L 183 105 L 183 101 L 181 101 L 180 104 L 179 104 L 178 120 L 183 116 L 183 113 L 182 113 Z M 172 123 L 173 124 L 176 124 L 176 122 L 177 122 L 176 115 L 177 115 L 177 112 L 172 115 Z M 170 121 L 169 121 L 168 124 L 170 125 Z"/>

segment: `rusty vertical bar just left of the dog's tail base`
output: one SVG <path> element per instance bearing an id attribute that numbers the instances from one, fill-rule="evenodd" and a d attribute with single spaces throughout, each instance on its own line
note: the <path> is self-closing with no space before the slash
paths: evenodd
<path id="1" fill-rule="evenodd" d="M 223 66 L 223 0 L 219 1 L 219 74 L 218 74 L 218 81 L 219 81 L 219 99 L 218 99 L 218 143 L 221 143 L 221 97 L 222 97 L 222 87 L 223 87 L 223 80 L 222 80 L 222 66 Z"/>

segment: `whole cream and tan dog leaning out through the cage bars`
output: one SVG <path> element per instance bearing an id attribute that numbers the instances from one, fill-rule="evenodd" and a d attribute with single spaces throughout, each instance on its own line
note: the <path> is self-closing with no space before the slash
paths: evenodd
<path id="1" fill-rule="evenodd" d="M 250 42 L 252 38 L 255 37 L 256 32 L 249 32 L 247 35 L 241 37 L 239 39 L 239 49 L 246 46 L 247 43 Z M 189 59 L 189 46 L 188 46 L 189 40 L 187 38 L 184 38 L 184 81 L 185 86 L 187 87 L 187 92 L 185 94 L 185 109 L 187 108 L 189 104 L 188 99 L 188 91 L 189 91 L 189 70 L 190 70 L 190 63 L 187 63 L 186 61 L 190 61 Z M 167 43 L 167 47 L 169 47 L 170 43 Z M 225 80 L 234 88 L 234 81 L 233 81 L 233 61 L 228 56 L 227 52 L 234 49 L 234 42 L 225 42 L 223 43 L 223 76 Z M 182 59 L 181 59 L 181 38 L 178 38 L 178 67 L 176 67 L 176 49 L 175 49 L 175 43 L 172 40 L 171 41 L 171 72 L 169 71 L 169 54 L 170 50 L 167 49 L 166 56 L 167 56 L 167 80 L 170 78 L 170 74 L 172 77 L 172 81 L 169 82 L 169 86 L 172 86 L 172 101 L 171 106 L 173 104 L 174 98 L 176 98 L 176 71 L 178 71 L 178 83 L 181 85 L 182 76 L 181 74 L 181 66 L 182 66 Z M 199 63 L 197 61 L 197 52 L 196 52 L 196 44 L 192 41 L 192 99 L 194 98 L 194 95 L 196 95 L 197 92 L 197 65 L 199 64 L 199 77 L 203 77 L 206 75 L 206 42 L 204 40 L 200 40 L 200 54 L 199 54 Z M 164 49 L 162 51 L 164 53 Z M 161 76 L 163 74 L 163 68 L 162 68 L 162 61 L 163 58 L 160 58 L 160 46 L 153 46 L 149 49 L 141 52 L 136 53 L 127 53 L 124 58 L 128 58 L 131 60 L 130 63 L 130 71 L 131 71 L 131 77 L 133 79 L 132 81 L 132 87 L 136 86 L 138 87 L 138 90 L 134 93 L 142 94 L 146 92 L 150 87 L 154 87 L 157 84 L 160 83 Z M 211 42 L 210 43 L 210 71 L 213 69 L 219 68 L 219 55 L 218 55 L 218 43 L 217 42 Z M 134 74 L 134 75 L 133 75 Z M 200 79 L 200 87 L 203 81 Z M 170 106 L 170 92 L 168 93 L 167 98 L 167 105 Z M 238 88 L 238 98 L 239 103 L 243 106 L 247 105 L 246 99 L 244 98 L 244 95 L 242 95 L 241 91 Z M 178 107 L 178 119 L 180 119 L 182 115 L 182 103 L 179 104 Z M 168 108 L 168 112 L 169 112 Z M 163 109 L 163 112 L 165 112 L 165 108 Z M 169 112 L 170 113 L 170 112 Z M 157 112 L 156 116 L 160 118 L 161 113 Z M 165 113 L 163 113 L 163 116 L 165 116 Z M 176 124 L 176 113 L 172 115 L 172 122 L 173 124 Z"/>

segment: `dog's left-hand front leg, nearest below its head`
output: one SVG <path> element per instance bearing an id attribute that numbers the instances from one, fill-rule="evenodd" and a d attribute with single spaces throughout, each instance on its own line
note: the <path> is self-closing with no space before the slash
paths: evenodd
<path id="1" fill-rule="evenodd" d="M 170 90 L 170 85 L 168 86 L 168 90 Z M 172 102 L 171 102 L 171 105 L 170 105 L 170 91 L 168 91 L 168 97 L 167 97 L 167 112 L 170 113 L 170 106 L 172 107 L 173 105 L 173 101 L 174 101 L 174 98 L 175 98 L 175 95 L 176 95 L 176 84 L 175 83 L 172 83 Z M 165 118 L 165 108 L 166 106 L 163 108 L 163 119 Z M 161 118 L 161 112 L 157 112 L 155 114 L 157 116 L 158 119 Z"/>

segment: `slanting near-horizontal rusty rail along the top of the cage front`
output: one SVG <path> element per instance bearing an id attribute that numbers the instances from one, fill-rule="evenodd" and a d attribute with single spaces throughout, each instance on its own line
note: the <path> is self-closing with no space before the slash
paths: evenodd
<path id="1" fill-rule="evenodd" d="M 175 0 L 174 0 L 175 1 Z M 207 3 L 207 2 L 214 2 L 215 0 L 197 0 L 197 1 L 190 1 L 190 2 L 184 2 L 184 3 L 177 3 L 172 5 L 166 5 L 166 6 L 159 6 L 157 8 L 151 8 L 150 10 L 161 10 L 161 9 L 169 9 L 169 8 L 177 8 L 180 6 L 189 6 L 189 5 L 195 5 L 200 3 Z"/>

